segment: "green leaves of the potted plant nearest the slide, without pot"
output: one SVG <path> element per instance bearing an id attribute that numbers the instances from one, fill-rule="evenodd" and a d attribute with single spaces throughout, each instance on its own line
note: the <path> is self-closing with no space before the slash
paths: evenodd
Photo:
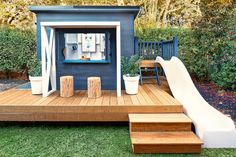
<path id="1" fill-rule="evenodd" d="M 124 75 L 136 76 L 138 74 L 140 57 L 139 55 L 132 55 L 131 57 L 121 57 L 121 69 Z"/>

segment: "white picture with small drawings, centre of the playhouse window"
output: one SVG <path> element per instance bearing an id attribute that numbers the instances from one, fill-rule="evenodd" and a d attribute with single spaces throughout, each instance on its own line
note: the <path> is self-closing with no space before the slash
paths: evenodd
<path id="1" fill-rule="evenodd" d="M 96 52 L 95 34 L 82 34 L 82 51 Z"/>

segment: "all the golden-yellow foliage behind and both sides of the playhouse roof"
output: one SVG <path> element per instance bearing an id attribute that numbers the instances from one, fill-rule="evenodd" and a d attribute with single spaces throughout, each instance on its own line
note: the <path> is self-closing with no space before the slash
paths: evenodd
<path id="1" fill-rule="evenodd" d="M 199 0 L 0 0 L 0 24 L 12 28 L 34 28 L 29 5 L 130 5 L 141 6 L 137 28 L 190 27 L 201 17 Z"/>

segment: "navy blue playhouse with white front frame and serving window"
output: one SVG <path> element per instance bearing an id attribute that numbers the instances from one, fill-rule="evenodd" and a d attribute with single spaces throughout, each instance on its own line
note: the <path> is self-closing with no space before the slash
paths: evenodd
<path id="1" fill-rule="evenodd" d="M 87 78 L 99 76 L 102 89 L 116 89 L 119 96 L 120 57 L 131 56 L 139 48 L 143 55 L 148 52 L 143 49 L 147 50 L 149 44 L 159 44 L 135 42 L 138 6 L 31 6 L 29 9 L 37 18 L 37 53 L 42 60 L 44 96 L 59 89 L 59 78 L 64 75 L 74 77 L 75 89 L 86 89 Z"/>

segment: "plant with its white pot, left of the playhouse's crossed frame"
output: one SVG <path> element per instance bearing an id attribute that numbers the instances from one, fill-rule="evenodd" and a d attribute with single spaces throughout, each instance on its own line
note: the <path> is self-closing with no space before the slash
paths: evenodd
<path id="1" fill-rule="evenodd" d="M 31 64 L 29 68 L 29 80 L 32 94 L 42 94 L 42 71 L 40 61 Z"/>

